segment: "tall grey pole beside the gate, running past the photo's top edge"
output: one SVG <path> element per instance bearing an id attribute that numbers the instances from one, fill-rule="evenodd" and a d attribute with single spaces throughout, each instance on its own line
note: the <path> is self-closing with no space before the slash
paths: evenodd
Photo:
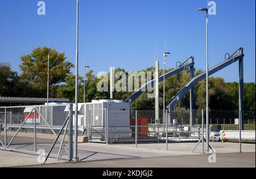
<path id="1" fill-rule="evenodd" d="M 75 152 L 73 161 L 79 161 L 77 156 L 77 122 L 78 122 L 78 76 L 79 76 L 79 0 L 76 0 L 76 94 L 75 94 Z"/>

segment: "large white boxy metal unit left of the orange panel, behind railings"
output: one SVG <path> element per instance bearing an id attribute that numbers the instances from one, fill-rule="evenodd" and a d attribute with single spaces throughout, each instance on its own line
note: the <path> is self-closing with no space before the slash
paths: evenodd
<path id="1" fill-rule="evenodd" d="M 98 131 L 102 139 L 106 138 L 106 130 L 109 139 L 131 137 L 130 103 L 110 99 L 93 100 L 91 103 L 85 103 L 84 111 L 82 124 L 85 129 Z M 93 138 L 96 134 L 92 132 L 91 135 Z"/>

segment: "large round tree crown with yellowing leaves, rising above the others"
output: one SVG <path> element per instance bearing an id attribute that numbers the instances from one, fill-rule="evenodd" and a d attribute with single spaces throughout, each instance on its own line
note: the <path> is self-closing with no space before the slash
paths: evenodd
<path id="1" fill-rule="evenodd" d="M 57 85 L 65 81 L 74 66 L 66 61 L 65 53 L 59 53 L 56 49 L 38 47 L 30 54 L 20 57 L 22 64 L 19 65 L 22 74 L 20 78 L 31 86 L 42 87 L 47 83 L 49 51 L 49 85 Z"/>

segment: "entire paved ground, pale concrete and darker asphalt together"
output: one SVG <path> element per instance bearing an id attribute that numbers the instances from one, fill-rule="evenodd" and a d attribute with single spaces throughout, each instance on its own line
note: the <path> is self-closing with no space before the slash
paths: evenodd
<path id="1" fill-rule="evenodd" d="M 0 150 L 0 167 L 28 166 L 33 167 L 255 167 L 255 144 L 242 144 L 243 153 L 239 152 L 238 143 L 214 143 L 210 142 L 217 153 L 216 163 L 210 164 L 208 156 L 201 155 L 202 144 L 195 148 L 196 143 L 170 143 L 166 151 L 165 143 L 117 144 L 106 145 L 98 143 L 81 143 L 78 145 L 79 164 L 69 163 L 67 160 L 56 160 L 59 145 L 53 149 L 47 164 L 39 165 L 38 154 Z M 34 151 L 34 144 L 12 145 L 11 148 L 19 148 L 26 151 Z M 51 144 L 38 144 L 37 149 L 43 149 L 46 153 Z M 205 146 L 206 147 L 206 146 Z M 67 158 L 67 152 L 61 150 L 61 159 Z"/>

